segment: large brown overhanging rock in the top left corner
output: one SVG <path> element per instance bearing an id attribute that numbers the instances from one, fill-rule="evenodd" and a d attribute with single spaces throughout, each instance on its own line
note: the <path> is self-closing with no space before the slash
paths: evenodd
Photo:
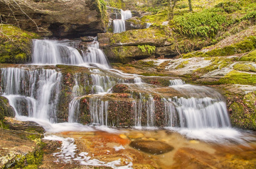
<path id="1" fill-rule="evenodd" d="M 4 22 L 41 36 L 74 38 L 96 35 L 104 30 L 100 4 L 95 0 L 16 2 L 0 1 L 1 14 L 6 16 Z"/>

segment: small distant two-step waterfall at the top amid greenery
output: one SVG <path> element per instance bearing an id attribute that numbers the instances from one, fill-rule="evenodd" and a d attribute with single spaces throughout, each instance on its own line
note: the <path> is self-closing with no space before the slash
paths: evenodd
<path id="1" fill-rule="evenodd" d="M 121 9 L 121 16 L 122 16 L 122 19 L 113 20 L 113 25 L 114 25 L 113 33 L 122 33 L 125 31 L 125 20 L 132 18 L 132 12 L 129 10 L 122 11 Z"/>

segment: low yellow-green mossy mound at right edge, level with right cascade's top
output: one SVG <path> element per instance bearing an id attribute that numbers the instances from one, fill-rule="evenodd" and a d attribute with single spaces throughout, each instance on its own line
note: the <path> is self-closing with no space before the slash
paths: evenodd
<path id="1" fill-rule="evenodd" d="M 255 85 L 256 74 L 247 74 L 240 71 L 230 71 L 224 78 L 220 78 L 218 81 L 222 84 L 243 84 L 243 85 Z"/>

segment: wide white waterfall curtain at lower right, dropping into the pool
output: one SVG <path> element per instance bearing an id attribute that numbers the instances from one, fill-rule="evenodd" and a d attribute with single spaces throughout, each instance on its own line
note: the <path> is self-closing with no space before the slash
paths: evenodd
<path id="1" fill-rule="evenodd" d="M 188 129 L 230 127 L 224 102 L 213 98 L 174 98 L 180 126 Z"/>

